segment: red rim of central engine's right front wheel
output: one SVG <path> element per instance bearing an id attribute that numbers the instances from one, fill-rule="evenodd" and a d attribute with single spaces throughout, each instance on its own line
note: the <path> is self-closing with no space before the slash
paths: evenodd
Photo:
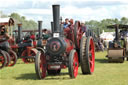
<path id="1" fill-rule="evenodd" d="M 77 74 L 78 74 L 78 54 L 77 52 L 74 53 L 74 58 L 73 58 L 73 73 L 74 73 L 74 77 L 76 78 Z"/>

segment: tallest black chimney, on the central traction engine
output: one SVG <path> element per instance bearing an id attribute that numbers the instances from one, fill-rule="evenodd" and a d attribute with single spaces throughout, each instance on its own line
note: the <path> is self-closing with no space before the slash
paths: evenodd
<path id="1" fill-rule="evenodd" d="M 53 23 L 54 23 L 54 32 L 60 32 L 60 5 L 52 5 L 53 8 Z"/>

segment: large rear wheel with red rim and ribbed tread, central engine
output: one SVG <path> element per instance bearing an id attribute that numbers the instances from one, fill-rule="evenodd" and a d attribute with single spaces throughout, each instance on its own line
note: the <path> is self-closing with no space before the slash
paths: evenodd
<path id="1" fill-rule="evenodd" d="M 80 62 L 83 74 L 92 74 L 95 67 L 95 50 L 93 38 L 85 36 L 81 39 L 80 44 Z"/>

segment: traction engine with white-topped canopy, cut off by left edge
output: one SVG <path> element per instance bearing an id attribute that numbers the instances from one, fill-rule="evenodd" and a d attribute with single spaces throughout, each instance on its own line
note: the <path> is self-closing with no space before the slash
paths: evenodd
<path id="1" fill-rule="evenodd" d="M 8 35 L 11 36 L 11 38 L 7 39 L 7 37 L 4 37 L 5 33 L 1 34 L 0 31 L 0 68 L 4 66 L 13 66 L 17 61 L 16 53 L 10 48 L 6 47 L 8 43 L 10 44 L 10 42 L 14 42 L 14 39 L 12 37 L 13 26 L 14 20 L 12 18 L 0 18 L 0 29 L 4 27 L 5 33 L 8 33 Z"/>

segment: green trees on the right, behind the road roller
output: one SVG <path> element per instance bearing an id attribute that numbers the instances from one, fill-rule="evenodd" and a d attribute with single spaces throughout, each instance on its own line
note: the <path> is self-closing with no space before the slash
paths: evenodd
<path id="1" fill-rule="evenodd" d="M 112 29 L 107 29 L 108 25 L 113 25 L 113 24 L 128 25 L 128 18 L 127 17 L 122 17 L 121 19 L 117 19 L 117 18 L 115 18 L 115 19 L 103 19 L 101 21 L 90 20 L 90 21 L 85 22 L 85 25 L 89 29 L 93 29 L 94 31 L 96 31 L 97 28 L 99 28 L 101 31 L 104 30 L 106 32 L 114 31 Z"/>

